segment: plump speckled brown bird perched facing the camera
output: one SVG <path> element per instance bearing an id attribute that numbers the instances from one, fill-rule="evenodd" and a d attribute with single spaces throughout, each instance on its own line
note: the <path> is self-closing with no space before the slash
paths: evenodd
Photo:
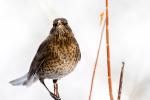
<path id="1" fill-rule="evenodd" d="M 79 44 L 66 18 L 55 18 L 47 38 L 40 44 L 29 68 L 22 77 L 10 81 L 14 86 L 30 86 L 39 80 L 54 100 L 61 100 L 58 80 L 70 74 L 81 60 Z M 54 93 L 44 80 L 52 79 Z"/>

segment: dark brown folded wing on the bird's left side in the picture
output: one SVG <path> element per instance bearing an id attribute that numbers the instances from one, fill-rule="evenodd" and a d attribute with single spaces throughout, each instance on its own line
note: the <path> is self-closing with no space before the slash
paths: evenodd
<path id="1" fill-rule="evenodd" d="M 45 56 L 46 56 L 46 49 L 48 47 L 48 40 L 42 42 L 39 46 L 37 53 L 31 63 L 30 70 L 28 72 L 28 79 L 33 77 L 35 73 L 39 70 L 40 66 L 44 63 Z"/>

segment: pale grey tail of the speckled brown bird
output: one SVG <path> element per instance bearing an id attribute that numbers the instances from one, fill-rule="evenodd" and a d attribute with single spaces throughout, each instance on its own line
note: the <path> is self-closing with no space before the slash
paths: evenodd
<path id="1" fill-rule="evenodd" d="M 35 82 L 37 80 L 36 77 L 32 77 L 32 78 L 28 79 L 27 76 L 28 76 L 28 73 L 20 78 L 10 81 L 9 83 L 14 86 L 18 86 L 18 85 L 30 86 L 33 82 Z"/>

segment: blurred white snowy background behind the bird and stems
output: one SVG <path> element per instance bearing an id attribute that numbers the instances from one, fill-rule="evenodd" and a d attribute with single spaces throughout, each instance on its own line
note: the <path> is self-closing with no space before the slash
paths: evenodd
<path id="1" fill-rule="evenodd" d="M 113 94 L 116 99 L 121 62 L 125 61 L 122 100 L 150 100 L 150 1 L 110 0 L 110 49 Z M 9 81 L 28 72 L 52 21 L 68 19 L 79 42 L 82 60 L 59 81 L 63 100 L 87 100 L 100 39 L 99 14 L 105 0 L 0 0 L 0 99 L 52 100 L 36 82 L 14 87 Z M 92 100 L 109 100 L 105 36 L 94 81 Z M 53 90 L 51 80 L 46 80 Z"/>

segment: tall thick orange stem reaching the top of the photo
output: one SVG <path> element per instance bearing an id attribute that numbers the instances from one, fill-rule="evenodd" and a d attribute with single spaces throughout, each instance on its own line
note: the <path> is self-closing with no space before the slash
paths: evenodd
<path id="1" fill-rule="evenodd" d="M 109 18 L 108 18 L 108 0 L 106 0 L 106 48 L 107 48 L 107 69 L 108 69 L 108 85 L 110 100 L 113 100 L 111 66 L 110 66 L 110 47 L 109 47 Z"/>

